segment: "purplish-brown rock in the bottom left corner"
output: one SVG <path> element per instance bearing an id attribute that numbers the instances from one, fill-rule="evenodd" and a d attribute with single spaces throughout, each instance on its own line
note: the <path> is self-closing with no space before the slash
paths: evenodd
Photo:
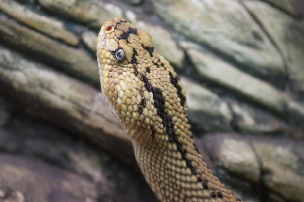
<path id="1" fill-rule="evenodd" d="M 84 176 L 41 161 L 0 153 L 0 162 L 3 202 L 83 202 L 99 196 L 97 185 Z"/>

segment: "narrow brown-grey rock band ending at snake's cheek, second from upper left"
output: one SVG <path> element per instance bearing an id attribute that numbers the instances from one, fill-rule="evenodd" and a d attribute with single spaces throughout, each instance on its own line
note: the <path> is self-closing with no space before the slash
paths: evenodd
<path id="1" fill-rule="evenodd" d="M 84 80 L 99 83 L 97 62 L 82 50 L 69 47 L 33 31 L 17 22 L 0 16 L 1 40 L 6 44 L 38 54 L 56 68 L 66 71 Z"/>

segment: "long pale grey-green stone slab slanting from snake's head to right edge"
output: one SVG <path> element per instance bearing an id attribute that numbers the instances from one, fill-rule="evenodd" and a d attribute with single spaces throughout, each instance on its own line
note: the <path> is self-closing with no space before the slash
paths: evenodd
<path id="1" fill-rule="evenodd" d="M 230 63 L 219 57 L 207 53 L 202 47 L 191 42 L 180 42 L 185 48 L 191 62 L 203 79 L 214 82 L 224 88 L 248 97 L 279 114 L 293 114 L 287 117 L 291 121 L 304 120 L 304 107 L 291 99 L 284 92 L 271 86 L 269 83 L 236 69 Z M 295 117 L 295 114 L 297 115 Z"/>

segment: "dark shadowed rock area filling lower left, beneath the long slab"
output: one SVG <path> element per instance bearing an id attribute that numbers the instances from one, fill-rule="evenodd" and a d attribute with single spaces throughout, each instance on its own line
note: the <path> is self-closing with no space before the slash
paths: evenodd
<path id="1" fill-rule="evenodd" d="M 156 202 L 133 169 L 16 106 L 0 127 L 0 202 Z"/>

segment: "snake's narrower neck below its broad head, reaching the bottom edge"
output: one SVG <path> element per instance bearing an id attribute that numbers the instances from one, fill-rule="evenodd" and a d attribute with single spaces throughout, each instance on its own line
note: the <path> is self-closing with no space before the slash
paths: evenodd
<path id="1" fill-rule="evenodd" d="M 212 174 L 191 140 L 132 141 L 138 165 L 156 196 L 162 202 L 241 201 Z"/>

